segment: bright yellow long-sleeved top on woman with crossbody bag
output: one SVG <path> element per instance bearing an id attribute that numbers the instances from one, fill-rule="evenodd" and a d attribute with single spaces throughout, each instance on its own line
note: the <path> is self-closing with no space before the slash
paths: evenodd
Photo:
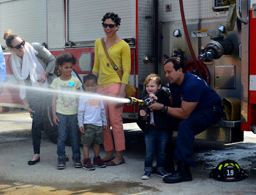
<path id="1" fill-rule="evenodd" d="M 123 71 L 122 80 L 120 80 L 115 69 L 108 61 L 108 57 L 104 52 L 101 39 L 95 41 L 95 58 L 93 64 L 93 72 L 99 73 L 98 85 L 104 87 L 113 83 L 125 83 L 129 81 L 131 74 L 131 49 L 124 41 L 114 44 L 108 49 L 110 59 L 116 64 L 118 69 Z"/>

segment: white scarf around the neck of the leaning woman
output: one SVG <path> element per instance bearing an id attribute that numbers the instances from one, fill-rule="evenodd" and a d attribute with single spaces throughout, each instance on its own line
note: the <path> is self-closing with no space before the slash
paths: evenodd
<path id="1" fill-rule="evenodd" d="M 38 82 L 38 78 L 44 74 L 45 70 L 36 59 L 38 52 L 26 42 L 24 46 L 25 52 L 22 57 L 22 62 L 20 57 L 12 51 L 11 61 L 12 61 L 12 71 L 13 75 L 20 82 L 20 98 L 26 98 L 26 87 L 25 80 L 30 76 L 30 80 L 33 87 L 47 87 L 47 79 L 45 83 Z"/>

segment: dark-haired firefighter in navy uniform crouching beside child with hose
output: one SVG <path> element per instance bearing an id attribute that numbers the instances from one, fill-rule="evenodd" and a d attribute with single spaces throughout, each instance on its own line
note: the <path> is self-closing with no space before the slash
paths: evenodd
<path id="1" fill-rule="evenodd" d="M 174 155 L 179 163 L 172 175 L 163 178 L 164 182 L 174 184 L 192 180 L 189 166 L 196 165 L 191 157 L 195 135 L 218 122 L 223 108 L 220 96 L 204 80 L 186 71 L 179 57 L 167 59 L 164 72 L 170 83 L 172 106 L 156 102 L 148 108 L 168 113 L 171 116 L 170 126 L 178 123 Z"/>

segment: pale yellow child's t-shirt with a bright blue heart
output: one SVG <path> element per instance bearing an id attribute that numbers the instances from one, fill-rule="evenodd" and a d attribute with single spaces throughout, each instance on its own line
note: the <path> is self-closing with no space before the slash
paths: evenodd
<path id="1" fill-rule="evenodd" d="M 75 115 L 77 114 L 77 101 L 74 94 L 68 93 L 76 92 L 76 90 L 81 87 L 82 83 L 78 78 L 72 76 L 70 80 L 61 80 L 60 77 L 55 78 L 52 81 L 51 87 L 57 90 L 67 90 L 67 93 L 58 93 L 58 98 L 56 101 L 56 112 L 63 115 Z"/>

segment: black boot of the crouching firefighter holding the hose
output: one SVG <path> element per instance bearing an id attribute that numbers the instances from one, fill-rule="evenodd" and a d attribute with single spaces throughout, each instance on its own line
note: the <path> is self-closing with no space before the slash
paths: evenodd
<path id="1" fill-rule="evenodd" d="M 172 175 L 163 178 L 163 181 L 168 184 L 175 184 L 179 182 L 191 181 L 192 175 L 189 170 L 189 164 L 179 163 L 178 168 Z"/>

